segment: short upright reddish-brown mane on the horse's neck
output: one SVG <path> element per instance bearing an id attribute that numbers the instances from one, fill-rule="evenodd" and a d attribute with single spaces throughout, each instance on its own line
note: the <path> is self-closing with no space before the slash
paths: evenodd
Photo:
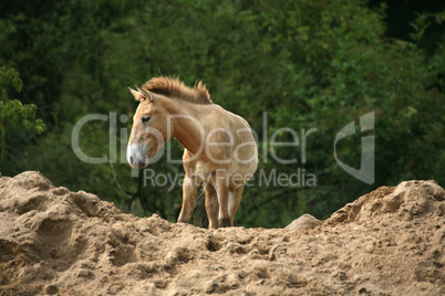
<path id="1" fill-rule="evenodd" d="M 170 98 L 178 98 L 195 104 L 213 104 L 206 85 L 200 81 L 197 81 L 195 86 L 192 88 L 186 86 L 178 78 L 161 76 L 153 77 L 142 87 L 152 93 L 161 94 Z"/>

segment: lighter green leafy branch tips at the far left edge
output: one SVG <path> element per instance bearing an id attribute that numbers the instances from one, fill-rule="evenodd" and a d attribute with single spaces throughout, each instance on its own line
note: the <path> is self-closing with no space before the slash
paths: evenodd
<path id="1" fill-rule="evenodd" d="M 6 66 L 0 67 L 0 158 L 4 149 L 6 126 L 22 128 L 25 131 L 41 134 L 45 126 L 42 119 L 35 119 L 37 106 L 23 105 L 18 99 L 8 99 L 7 87 L 11 85 L 17 92 L 22 88 L 19 72 Z"/>

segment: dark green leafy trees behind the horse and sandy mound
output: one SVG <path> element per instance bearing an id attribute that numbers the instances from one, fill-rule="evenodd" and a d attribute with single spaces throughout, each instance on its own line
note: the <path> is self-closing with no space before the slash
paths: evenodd
<path id="1" fill-rule="evenodd" d="M 188 85 L 203 80 L 214 102 L 245 117 L 259 139 L 282 127 L 317 128 L 308 137 L 306 163 L 301 146 L 276 147 L 280 158 L 299 160 L 280 165 L 259 142 L 268 156 L 259 168 L 267 176 L 300 168 L 317 176 L 317 187 L 256 182 L 245 190 L 239 225 L 283 226 L 307 212 L 324 219 L 402 180 L 444 184 L 444 22 L 441 1 L 3 1 L 0 171 L 39 170 L 55 186 L 175 221 L 180 187 L 144 184 L 143 171 L 132 177 L 121 154 L 127 140 L 122 130 L 132 120 L 117 121 L 116 163 L 85 163 L 71 147 L 79 119 L 132 117 L 137 106 L 126 87 L 162 74 Z M 343 126 L 372 110 L 375 182 L 365 184 L 339 167 L 333 142 Z M 361 136 L 339 144 L 339 158 L 353 167 L 360 166 Z M 277 140 L 291 140 L 290 134 L 279 133 Z M 107 156 L 108 142 L 106 121 L 81 130 L 89 156 Z M 180 157 L 182 147 L 170 144 Z M 151 168 L 183 171 L 165 156 Z M 200 205 L 194 223 L 205 224 L 204 216 Z"/>

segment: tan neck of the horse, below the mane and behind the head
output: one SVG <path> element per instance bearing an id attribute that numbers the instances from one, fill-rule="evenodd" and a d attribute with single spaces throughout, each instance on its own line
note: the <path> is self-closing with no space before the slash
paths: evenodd
<path id="1" fill-rule="evenodd" d="M 172 116 L 173 133 L 172 137 L 177 139 L 192 154 L 198 152 L 204 140 L 204 127 L 199 110 L 205 105 L 197 105 L 188 102 L 169 99 L 166 106 Z"/>

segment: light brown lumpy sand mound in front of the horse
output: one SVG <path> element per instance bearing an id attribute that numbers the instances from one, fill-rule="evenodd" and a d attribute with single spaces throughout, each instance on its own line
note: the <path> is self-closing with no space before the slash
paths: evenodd
<path id="1" fill-rule="evenodd" d="M 444 199 L 408 181 L 324 222 L 208 231 L 23 172 L 0 178 L 0 294 L 444 295 Z"/>

